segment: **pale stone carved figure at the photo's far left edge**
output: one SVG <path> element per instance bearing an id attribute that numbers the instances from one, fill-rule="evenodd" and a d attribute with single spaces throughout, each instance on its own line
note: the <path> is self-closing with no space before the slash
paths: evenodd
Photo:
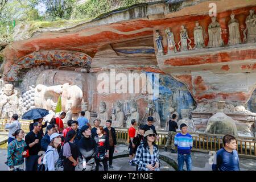
<path id="1" fill-rule="evenodd" d="M 12 84 L 5 84 L 0 95 L 0 116 L 4 119 L 7 115 L 11 117 L 13 114 L 19 114 L 17 97 L 18 91 L 14 89 Z"/>

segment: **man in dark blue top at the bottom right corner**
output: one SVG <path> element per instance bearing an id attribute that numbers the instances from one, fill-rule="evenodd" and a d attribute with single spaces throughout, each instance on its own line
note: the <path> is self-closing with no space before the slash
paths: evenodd
<path id="1" fill-rule="evenodd" d="M 222 142 L 224 147 L 218 150 L 216 156 L 214 156 L 212 170 L 240 171 L 236 138 L 232 135 L 225 135 Z"/>

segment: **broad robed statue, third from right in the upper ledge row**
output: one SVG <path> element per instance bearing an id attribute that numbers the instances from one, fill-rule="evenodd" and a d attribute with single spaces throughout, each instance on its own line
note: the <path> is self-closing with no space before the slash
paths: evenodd
<path id="1" fill-rule="evenodd" d="M 212 23 L 208 26 L 209 42 L 208 47 L 220 47 L 224 46 L 221 38 L 221 27 L 220 23 L 216 21 L 216 17 L 212 17 Z"/>

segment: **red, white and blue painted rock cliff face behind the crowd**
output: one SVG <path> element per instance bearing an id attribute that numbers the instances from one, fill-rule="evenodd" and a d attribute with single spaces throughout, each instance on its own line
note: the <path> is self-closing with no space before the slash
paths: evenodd
<path id="1" fill-rule="evenodd" d="M 209 16 L 210 2 L 143 3 L 69 27 L 65 23 L 51 28 L 20 25 L 15 41 L 2 51 L 3 80 L 22 80 L 22 94 L 38 84 L 77 86 L 82 98 L 72 100 L 88 102 L 92 116 L 99 113 L 100 101 L 104 101 L 110 117 L 115 113 L 114 103 L 118 100 L 126 120 L 131 114 L 133 99 L 138 104 L 139 119 L 144 120 L 148 102 L 152 100 L 162 126 L 176 111 L 180 118 L 192 119 L 189 120 L 191 126 L 202 132 L 208 119 L 221 110 L 237 121 L 237 129 L 247 135 L 247 128 L 255 122 L 255 114 L 235 108 L 246 105 L 248 110 L 255 112 L 256 42 L 249 43 L 244 38 L 253 40 L 255 35 L 256 30 L 250 27 L 248 20 L 253 22 L 254 15 L 250 14 L 256 10 L 256 2 L 215 1 L 217 23 Z M 233 22 L 238 23 L 234 26 L 241 43 L 230 46 L 229 36 L 237 38 L 237 34 L 229 31 L 232 13 L 236 18 Z M 201 48 L 195 48 L 198 41 L 194 32 L 196 22 L 202 28 L 199 33 L 203 39 Z M 167 28 L 173 33 L 172 39 L 167 36 Z M 209 46 L 212 38 L 211 44 L 223 44 Z M 181 46 L 188 50 L 180 51 L 183 50 Z M 170 47 L 177 51 L 170 51 Z M 41 67 L 49 70 L 43 71 Z M 115 76 L 121 74 L 119 80 L 112 80 L 112 69 Z M 128 79 L 130 73 L 151 75 L 152 79 L 141 82 L 135 88 L 138 93 L 121 92 L 123 87 L 117 84 L 122 82 L 121 78 Z M 99 85 L 108 85 L 102 84 L 100 78 L 109 78 L 108 83 L 114 88 L 108 93 L 99 92 Z M 154 85 L 156 79 L 159 80 L 158 96 L 148 90 L 142 92 L 148 85 Z M 129 82 L 128 79 L 126 85 Z M 79 89 L 76 90 L 80 93 Z M 61 92 L 47 99 L 55 102 L 58 94 Z M 79 113 L 80 103 L 71 107 L 73 114 Z"/>

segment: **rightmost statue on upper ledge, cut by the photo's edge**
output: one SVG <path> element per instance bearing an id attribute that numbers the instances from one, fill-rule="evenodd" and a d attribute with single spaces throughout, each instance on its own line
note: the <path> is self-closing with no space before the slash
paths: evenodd
<path id="1" fill-rule="evenodd" d="M 256 15 L 254 14 L 254 10 L 250 10 L 249 13 L 250 14 L 247 16 L 245 20 L 246 28 L 243 31 L 243 42 L 254 43 L 256 42 Z"/>

